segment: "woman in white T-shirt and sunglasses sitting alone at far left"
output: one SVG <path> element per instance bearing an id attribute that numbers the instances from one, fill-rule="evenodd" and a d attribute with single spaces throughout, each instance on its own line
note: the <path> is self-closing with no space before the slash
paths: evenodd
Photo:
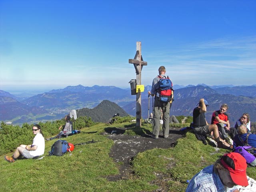
<path id="1" fill-rule="evenodd" d="M 32 128 L 33 134 L 36 135 L 32 145 L 20 145 L 12 156 L 4 156 L 4 159 L 10 163 L 15 162 L 19 156 L 27 159 L 35 158 L 44 154 L 44 136 L 40 125 L 36 124 Z"/>

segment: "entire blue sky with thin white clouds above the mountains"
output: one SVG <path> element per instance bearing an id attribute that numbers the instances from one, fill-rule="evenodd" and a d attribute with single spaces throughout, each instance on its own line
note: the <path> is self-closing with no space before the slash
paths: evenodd
<path id="1" fill-rule="evenodd" d="M 1 0 L 0 90 L 256 84 L 255 0 Z"/>

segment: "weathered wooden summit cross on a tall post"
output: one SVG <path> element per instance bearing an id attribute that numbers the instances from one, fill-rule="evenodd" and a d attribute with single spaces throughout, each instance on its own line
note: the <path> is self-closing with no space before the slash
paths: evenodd
<path id="1" fill-rule="evenodd" d="M 136 82 L 137 85 L 141 85 L 141 70 L 144 65 L 148 65 L 143 61 L 141 55 L 141 42 L 136 42 L 136 54 L 134 59 L 129 59 L 129 63 L 134 65 L 136 70 Z M 136 126 L 141 127 L 141 96 L 140 91 L 136 93 Z"/>

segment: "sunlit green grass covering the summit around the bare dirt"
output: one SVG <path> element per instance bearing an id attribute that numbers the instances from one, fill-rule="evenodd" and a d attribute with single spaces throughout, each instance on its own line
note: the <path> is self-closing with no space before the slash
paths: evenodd
<path id="1" fill-rule="evenodd" d="M 152 130 L 150 125 L 122 123 L 106 126 L 97 124 L 81 129 L 80 134 L 66 138 L 78 144 L 94 139 L 92 144 L 75 146 L 74 151 L 61 157 L 48 156 L 50 147 L 56 140 L 47 141 L 44 158 L 41 160 L 17 160 L 9 163 L 0 156 L 0 192 L 150 192 L 162 183 L 166 191 L 185 191 L 194 174 L 212 164 L 226 150 L 218 150 L 198 141 L 188 132 L 178 140 L 174 148 L 154 148 L 142 153 L 132 161 L 134 174 L 124 180 L 111 182 L 107 176 L 118 174 L 118 166 L 109 157 L 114 142 L 101 133 L 105 129 L 125 128 L 125 134 L 136 135 Z M 154 141 L 152 141 L 154 142 Z M 256 178 L 255 168 L 247 169 L 248 176 Z"/>

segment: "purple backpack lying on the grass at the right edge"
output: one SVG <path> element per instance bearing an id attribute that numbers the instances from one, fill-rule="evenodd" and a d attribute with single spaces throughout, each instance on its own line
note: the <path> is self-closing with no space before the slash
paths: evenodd
<path id="1" fill-rule="evenodd" d="M 252 146 L 238 146 L 235 148 L 234 152 L 240 153 L 246 159 L 247 164 L 256 166 L 256 157 L 254 156 Z"/>

